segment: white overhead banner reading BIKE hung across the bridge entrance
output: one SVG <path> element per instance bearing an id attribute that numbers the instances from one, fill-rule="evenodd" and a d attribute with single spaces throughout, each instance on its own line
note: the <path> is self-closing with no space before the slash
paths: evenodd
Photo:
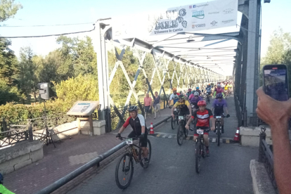
<path id="1" fill-rule="evenodd" d="M 169 8 L 160 15 L 150 36 L 234 26 L 237 17 L 237 0 L 208 1 Z"/>

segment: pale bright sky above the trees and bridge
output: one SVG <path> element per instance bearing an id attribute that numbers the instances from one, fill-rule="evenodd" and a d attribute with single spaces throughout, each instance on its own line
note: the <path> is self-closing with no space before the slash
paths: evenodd
<path id="1" fill-rule="evenodd" d="M 221 0 L 223 1 L 223 0 Z M 264 0 L 263 0 L 264 1 Z M 0 25 L 1 36 L 30 36 L 44 34 L 61 34 L 65 32 L 78 32 L 92 30 L 92 24 L 70 25 L 70 26 L 50 26 L 50 27 L 8 27 L 8 26 L 27 26 L 27 25 L 61 25 L 72 23 L 96 22 L 99 18 L 115 18 L 122 15 L 140 14 L 165 10 L 167 8 L 184 6 L 188 4 L 197 4 L 205 0 L 147 0 L 147 1 L 100 1 L 100 0 L 15 0 L 15 3 L 22 4 L 23 8 L 18 11 L 15 18 L 11 18 Z M 261 38 L 261 56 L 266 55 L 271 34 L 279 27 L 284 32 L 291 32 L 289 25 L 291 1 L 271 0 L 270 4 L 262 3 L 262 38 Z M 278 13 L 278 14 L 277 14 Z M 240 14 L 240 13 L 239 13 Z M 238 22 L 240 24 L 240 22 Z M 94 32 L 87 32 L 70 37 L 84 37 L 86 35 L 93 37 Z M 58 48 L 56 44 L 57 37 L 46 38 L 28 38 L 11 39 L 11 49 L 19 56 L 21 47 L 31 46 L 37 55 L 45 56 L 50 51 Z"/>

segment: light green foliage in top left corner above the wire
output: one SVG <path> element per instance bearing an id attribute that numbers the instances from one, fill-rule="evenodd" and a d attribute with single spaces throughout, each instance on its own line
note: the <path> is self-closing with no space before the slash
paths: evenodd
<path id="1" fill-rule="evenodd" d="M 13 18 L 21 4 L 14 4 L 14 0 L 0 0 L 0 22 Z"/>

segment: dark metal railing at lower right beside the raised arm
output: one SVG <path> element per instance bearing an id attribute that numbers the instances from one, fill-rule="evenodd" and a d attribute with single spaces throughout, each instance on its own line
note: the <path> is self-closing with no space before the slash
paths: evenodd
<path id="1" fill-rule="evenodd" d="M 274 160 L 272 153 L 272 145 L 266 143 L 266 128 L 261 127 L 261 133 L 259 134 L 259 162 L 264 163 L 266 171 L 269 174 L 269 178 L 273 184 L 273 187 L 277 190 L 276 179 L 274 175 Z"/>

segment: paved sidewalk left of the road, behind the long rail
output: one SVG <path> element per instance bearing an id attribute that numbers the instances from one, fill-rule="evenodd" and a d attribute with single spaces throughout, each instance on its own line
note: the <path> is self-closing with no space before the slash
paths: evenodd
<path id="1" fill-rule="evenodd" d="M 153 119 L 154 115 L 147 117 L 145 122 L 147 127 L 150 127 L 150 122 L 155 124 L 165 117 L 169 117 L 170 111 L 169 108 L 161 110 L 161 117 L 156 119 Z M 126 136 L 130 132 L 131 127 L 127 127 L 123 135 Z M 44 158 L 37 163 L 7 174 L 4 177 L 4 185 L 13 193 L 35 193 L 121 143 L 115 138 L 117 133 L 118 130 L 101 136 L 72 136 L 72 139 L 56 143 L 56 148 L 53 148 L 53 145 L 44 145 Z M 101 162 L 101 167 L 89 169 L 54 193 L 65 193 L 67 190 L 74 188 L 81 180 L 98 173 L 99 169 L 105 167 L 119 154 L 111 155 Z"/>

